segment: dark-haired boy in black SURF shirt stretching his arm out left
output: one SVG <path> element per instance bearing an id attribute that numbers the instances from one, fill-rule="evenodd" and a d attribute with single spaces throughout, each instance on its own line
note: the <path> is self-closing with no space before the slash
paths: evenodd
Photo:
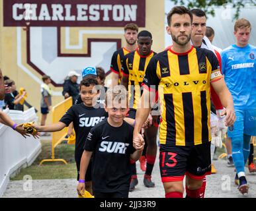
<path id="1" fill-rule="evenodd" d="M 97 125 L 100 121 L 107 117 L 107 112 L 104 108 L 95 108 L 97 105 L 97 95 L 99 94 L 95 90 L 95 86 L 98 82 L 95 78 L 87 77 L 81 80 L 79 90 L 81 93 L 81 98 L 83 100 L 82 104 L 71 106 L 65 115 L 60 119 L 58 123 L 46 126 L 36 126 L 35 129 L 39 132 L 55 132 L 61 131 L 64 127 L 67 127 L 71 122 L 73 122 L 73 127 L 75 129 L 75 162 L 77 164 L 77 180 L 79 179 L 79 169 L 81 156 L 83 154 L 83 146 L 85 144 L 86 137 L 92 127 Z M 97 106 L 102 107 L 102 106 Z M 87 191 L 92 193 L 91 190 L 91 163 L 89 165 L 86 175 L 87 183 L 85 188 Z"/>

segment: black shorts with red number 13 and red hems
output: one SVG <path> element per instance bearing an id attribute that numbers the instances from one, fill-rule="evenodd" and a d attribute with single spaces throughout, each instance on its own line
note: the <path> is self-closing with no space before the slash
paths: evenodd
<path id="1" fill-rule="evenodd" d="M 160 146 L 159 166 L 163 183 L 182 181 L 185 175 L 202 180 L 211 174 L 210 142 L 196 146 Z"/>

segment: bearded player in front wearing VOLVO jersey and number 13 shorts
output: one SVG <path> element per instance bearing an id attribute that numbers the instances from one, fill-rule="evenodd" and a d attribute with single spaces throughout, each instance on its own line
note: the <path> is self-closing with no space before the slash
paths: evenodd
<path id="1" fill-rule="evenodd" d="M 165 197 L 183 197 L 186 174 L 187 197 L 199 198 L 202 179 L 211 171 L 210 83 L 226 107 L 222 112 L 226 126 L 235 121 L 234 104 L 214 53 L 191 45 L 191 12 L 183 6 L 173 7 L 167 22 L 173 46 L 149 61 L 134 139 L 141 136 L 157 90 L 161 105 L 159 166 Z"/>

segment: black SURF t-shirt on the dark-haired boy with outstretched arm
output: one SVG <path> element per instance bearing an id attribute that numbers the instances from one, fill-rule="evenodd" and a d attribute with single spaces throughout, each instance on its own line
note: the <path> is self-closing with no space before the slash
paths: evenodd
<path id="1" fill-rule="evenodd" d="M 96 105 L 87 107 L 83 103 L 71 106 L 65 115 L 60 119 L 60 122 L 69 125 L 73 122 L 75 129 L 75 160 L 79 162 L 83 154 L 83 146 L 91 128 L 108 117 L 108 113 L 103 106 Z"/>

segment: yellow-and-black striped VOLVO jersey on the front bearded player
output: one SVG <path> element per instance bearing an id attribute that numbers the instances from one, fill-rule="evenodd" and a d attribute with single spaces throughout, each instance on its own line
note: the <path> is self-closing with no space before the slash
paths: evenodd
<path id="1" fill-rule="evenodd" d="M 207 49 L 167 49 L 149 62 L 143 86 L 157 90 L 161 106 L 160 144 L 192 146 L 211 140 L 210 82 L 220 80 L 218 59 Z"/>

